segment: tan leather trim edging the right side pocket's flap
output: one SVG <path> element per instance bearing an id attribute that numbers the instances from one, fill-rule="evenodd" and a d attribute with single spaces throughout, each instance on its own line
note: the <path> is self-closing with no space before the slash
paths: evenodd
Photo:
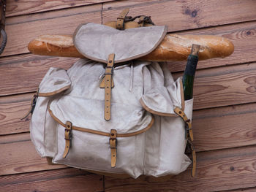
<path id="1" fill-rule="evenodd" d="M 180 85 L 181 85 L 181 110 L 184 111 L 184 106 L 185 106 L 185 101 L 184 101 L 184 91 L 183 91 L 183 84 L 182 84 L 182 78 L 180 80 Z M 148 112 L 151 112 L 154 115 L 160 115 L 160 116 L 165 116 L 165 117 L 178 117 L 178 115 L 176 115 L 176 113 L 167 113 L 167 112 L 157 112 L 155 110 L 152 110 L 151 108 L 149 108 L 143 101 L 142 98 L 140 98 L 140 104 L 141 106 Z"/>

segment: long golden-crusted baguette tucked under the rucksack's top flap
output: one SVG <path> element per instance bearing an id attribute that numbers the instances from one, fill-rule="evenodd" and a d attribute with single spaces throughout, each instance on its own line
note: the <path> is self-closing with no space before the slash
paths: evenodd
<path id="1" fill-rule="evenodd" d="M 143 61 L 184 61 L 190 54 L 192 44 L 200 45 L 198 54 L 200 60 L 225 58 L 234 50 L 233 43 L 224 37 L 167 34 L 154 51 L 138 59 Z M 28 49 L 36 55 L 84 58 L 75 48 L 72 35 L 42 35 L 32 40 Z"/>

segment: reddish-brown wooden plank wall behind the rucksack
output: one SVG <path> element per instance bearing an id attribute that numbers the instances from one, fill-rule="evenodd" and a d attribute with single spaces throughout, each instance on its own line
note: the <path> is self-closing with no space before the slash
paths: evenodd
<path id="1" fill-rule="evenodd" d="M 72 34 L 80 23 L 151 15 L 170 33 L 229 38 L 228 58 L 200 61 L 193 127 L 197 175 L 137 180 L 49 166 L 34 150 L 29 120 L 20 117 L 50 66 L 68 69 L 77 58 L 32 55 L 41 34 Z M 0 191 L 256 191 L 256 1 L 7 0 L 7 47 L 0 58 Z M 185 62 L 170 62 L 178 77 Z"/>

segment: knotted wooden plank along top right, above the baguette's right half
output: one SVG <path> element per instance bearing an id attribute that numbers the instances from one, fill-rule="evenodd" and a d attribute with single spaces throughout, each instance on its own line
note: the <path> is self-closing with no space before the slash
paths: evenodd
<path id="1" fill-rule="evenodd" d="M 256 1 L 113 1 L 103 4 L 102 21 L 116 20 L 122 9 L 129 15 L 150 15 L 157 25 L 167 25 L 169 31 L 219 26 L 256 18 Z M 232 10 L 233 13 L 227 11 Z M 161 10 L 161 11 L 159 11 Z M 225 19 L 223 19 L 225 18 Z"/>

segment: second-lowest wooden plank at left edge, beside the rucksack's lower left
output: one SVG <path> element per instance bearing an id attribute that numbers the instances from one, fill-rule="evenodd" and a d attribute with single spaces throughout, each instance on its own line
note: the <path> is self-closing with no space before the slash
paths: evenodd
<path id="1" fill-rule="evenodd" d="M 29 134 L 0 136 L 0 140 L 0 175 L 66 167 L 64 165 L 48 165 L 46 159 L 37 154 L 29 139 Z"/>

